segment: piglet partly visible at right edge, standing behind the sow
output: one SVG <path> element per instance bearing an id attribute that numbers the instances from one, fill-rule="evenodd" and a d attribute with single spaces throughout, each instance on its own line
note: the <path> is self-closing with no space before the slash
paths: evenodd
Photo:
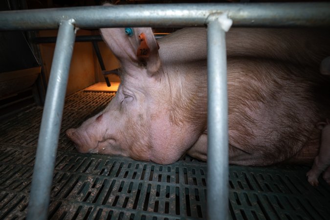
<path id="1" fill-rule="evenodd" d="M 323 178 L 330 184 L 330 120 L 317 123 L 318 129 L 322 130 L 321 146 L 319 154 L 315 157 L 312 169 L 308 171 L 308 182 L 317 186 L 319 184 L 318 176 L 323 172 Z M 327 169 L 327 170 L 325 170 Z"/>

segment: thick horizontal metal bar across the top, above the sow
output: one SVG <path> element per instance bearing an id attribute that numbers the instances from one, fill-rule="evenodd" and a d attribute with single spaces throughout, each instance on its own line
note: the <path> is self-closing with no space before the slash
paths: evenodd
<path id="1" fill-rule="evenodd" d="M 59 21 L 70 18 L 79 28 L 203 26 L 212 13 L 227 13 L 234 26 L 330 25 L 330 2 L 197 3 L 4 11 L 0 30 L 56 29 Z"/>

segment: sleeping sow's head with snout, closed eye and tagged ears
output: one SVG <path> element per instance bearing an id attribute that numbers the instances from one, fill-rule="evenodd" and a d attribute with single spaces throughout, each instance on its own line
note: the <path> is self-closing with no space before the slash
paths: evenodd
<path id="1" fill-rule="evenodd" d="M 133 28 L 133 33 L 125 34 L 125 28 L 101 29 L 104 41 L 121 63 L 121 84 L 105 110 L 66 134 L 81 153 L 173 163 L 197 141 L 206 125 L 187 122 L 199 113 L 186 108 L 195 108 L 198 101 L 181 103 L 182 96 L 189 94 L 181 94 L 187 80 L 174 78 L 177 69 L 169 76 L 169 67 L 161 65 L 151 28 Z M 139 37 L 146 44 L 142 45 Z M 177 88 L 173 88 L 175 84 L 179 84 Z M 189 120 L 183 120 L 185 115 Z"/>

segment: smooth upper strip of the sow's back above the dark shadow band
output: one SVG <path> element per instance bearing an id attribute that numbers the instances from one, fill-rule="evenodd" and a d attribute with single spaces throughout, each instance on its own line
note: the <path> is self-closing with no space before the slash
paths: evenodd
<path id="1" fill-rule="evenodd" d="M 226 33 L 228 59 L 254 57 L 320 65 L 330 56 L 330 32 L 315 28 L 231 28 Z M 207 29 L 183 28 L 160 40 L 163 63 L 192 62 L 207 57 Z"/>

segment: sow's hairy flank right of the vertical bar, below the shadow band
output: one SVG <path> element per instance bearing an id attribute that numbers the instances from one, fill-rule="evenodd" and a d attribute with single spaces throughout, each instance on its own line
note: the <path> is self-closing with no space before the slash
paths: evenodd
<path id="1" fill-rule="evenodd" d="M 228 63 L 230 163 L 268 165 L 317 149 L 321 116 L 308 80 L 272 62 Z"/>

